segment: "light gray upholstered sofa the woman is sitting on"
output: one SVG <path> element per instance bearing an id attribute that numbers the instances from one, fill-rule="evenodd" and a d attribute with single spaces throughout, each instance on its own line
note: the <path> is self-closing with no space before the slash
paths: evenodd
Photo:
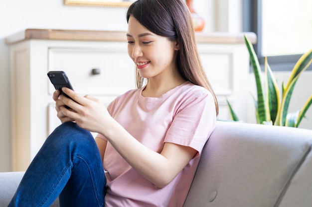
<path id="1" fill-rule="evenodd" d="M 311 207 L 311 144 L 312 130 L 218 121 L 184 207 Z M 21 177 L 0 173 L 0 207 Z"/>

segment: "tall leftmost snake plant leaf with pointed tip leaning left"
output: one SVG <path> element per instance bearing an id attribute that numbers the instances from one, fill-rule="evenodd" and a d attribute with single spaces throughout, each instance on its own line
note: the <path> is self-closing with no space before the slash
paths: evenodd
<path id="1" fill-rule="evenodd" d="M 258 102 L 258 116 L 260 123 L 264 121 L 268 121 L 267 119 L 267 109 L 265 105 L 265 99 L 264 99 L 264 93 L 263 93 L 263 87 L 262 87 L 262 80 L 261 80 L 261 68 L 260 64 L 256 55 L 256 52 L 250 42 L 250 40 L 244 35 L 245 43 L 249 52 L 250 56 L 250 62 L 252 65 L 252 68 L 254 70 L 255 79 L 256 79 L 256 86 L 257 86 L 257 102 Z"/>

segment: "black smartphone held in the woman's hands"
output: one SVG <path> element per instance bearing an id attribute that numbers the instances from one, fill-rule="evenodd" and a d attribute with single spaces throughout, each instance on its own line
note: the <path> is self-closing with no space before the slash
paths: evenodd
<path id="1" fill-rule="evenodd" d="M 60 95 L 64 95 L 64 96 L 70 98 L 68 95 L 66 95 L 62 91 L 62 87 L 67 87 L 67 88 L 74 90 L 73 87 L 71 86 L 70 82 L 69 82 L 69 79 L 68 79 L 66 73 L 64 71 L 49 71 L 48 77 L 49 77 L 51 83 L 54 85 L 54 88 L 56 90 L 60 91 Z M 68 107 L 66 107 L 66 108 L 68 108 Z"/>

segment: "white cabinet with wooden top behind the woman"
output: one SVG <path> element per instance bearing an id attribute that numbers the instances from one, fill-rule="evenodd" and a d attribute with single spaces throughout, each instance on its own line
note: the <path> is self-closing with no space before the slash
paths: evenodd
<path id="1" fill-rule="evenodd" d="M 249 73 L 249 56 L 242 34 L 234 41 L 231 35 L 197 36 L 204 68 L 219 100 L 219 119 L 228 119 L 225 97 L 234 107 L 245 100 L 240 94 L 246 89 L 243 78 Z M 25 170 L 60 124 L 49 70 L 65 71 L 76 92 L 95 96 L 106 105 L 135 88 L 135 66 L 128 57 L 125 32 L 28 29 L 6 42 L 10 45 L 13 171 Z M 93 74 L 93 69 L 99 74 Z"/>

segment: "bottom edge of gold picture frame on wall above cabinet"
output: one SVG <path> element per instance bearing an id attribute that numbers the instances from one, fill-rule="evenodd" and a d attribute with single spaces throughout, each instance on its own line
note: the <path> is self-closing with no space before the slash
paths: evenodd
<path id="1" fill-rule="evenodd" d="M 136 0 L 64 0 L 65 5 L 129 7 Z"/>

